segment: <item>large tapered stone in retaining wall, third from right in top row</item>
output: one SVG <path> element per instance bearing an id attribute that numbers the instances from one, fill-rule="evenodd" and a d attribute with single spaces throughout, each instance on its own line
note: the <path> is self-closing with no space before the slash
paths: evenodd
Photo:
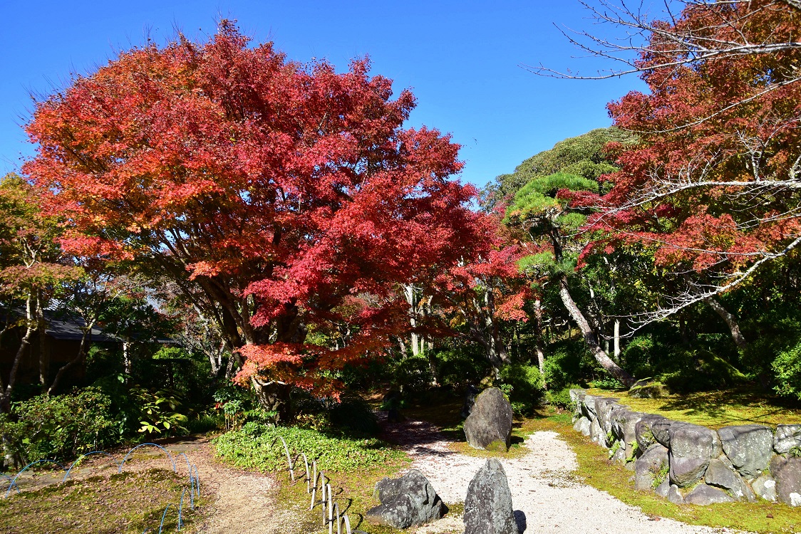
<path id="1" fill-rule="evenodd" d="M 670 482 L 680 488 L 699 480 L 712 457 L 720 456 L 720 440 L 710 428 L 674 421 L 669 435 Z"/>

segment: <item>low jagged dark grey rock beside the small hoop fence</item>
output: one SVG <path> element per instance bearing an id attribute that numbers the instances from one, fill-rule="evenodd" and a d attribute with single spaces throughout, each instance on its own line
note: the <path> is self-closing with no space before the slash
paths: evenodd
<path id="1" fill-rule="evenodd" d="M 372 524 L 417 527 L 438 520 L 448 512 L 429 480 L 417 469 L 410 469 L 400 478 L 379 480 L 375 495 L 381 504 L 365 515 Z"/>

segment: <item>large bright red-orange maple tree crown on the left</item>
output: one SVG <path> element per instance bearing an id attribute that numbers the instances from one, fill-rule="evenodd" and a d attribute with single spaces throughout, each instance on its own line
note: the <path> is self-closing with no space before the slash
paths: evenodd
<path id="1" fill-rule="evenodd" d="M 459 147 L 405 129 L 413 94 L 368 70 L 288 61 L 223 21 L 38 102 L 24 171 L 69 221 L 63 247 L 175 281 L 239 349 L 240 380 L 313 387 L 408 323 L 398 283 L 484 239 L 473 187 L 449 178 Z"/>

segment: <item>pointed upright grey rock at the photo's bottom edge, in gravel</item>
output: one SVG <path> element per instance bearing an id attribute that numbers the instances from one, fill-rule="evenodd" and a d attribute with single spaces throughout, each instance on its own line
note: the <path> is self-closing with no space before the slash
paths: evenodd
<path id="1" fill-rule="evenodd" d="M 494 458 L 487 460 L 467 487 L 465 534 L 517 534 L 506 472 Z"/>

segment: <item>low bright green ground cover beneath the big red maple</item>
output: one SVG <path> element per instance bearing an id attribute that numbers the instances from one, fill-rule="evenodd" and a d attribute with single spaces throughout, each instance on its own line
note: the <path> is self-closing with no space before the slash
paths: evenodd
<path id="1" fill-rule="evenodd" d="M 303 452 L 309 462 L 317 460 L 317 467 L 324 471 L 366 468 L 403 457 L 403 453 L 376 438 L 354 439 L 308 428 L 268 427 L 255 421 L 241 430 L 216 437 L 212 443 L 216 455 L 226 462 L 242 468 L 276 471 L 287 466 L 279 436 L 287 441 L 291 456 Z"/>

